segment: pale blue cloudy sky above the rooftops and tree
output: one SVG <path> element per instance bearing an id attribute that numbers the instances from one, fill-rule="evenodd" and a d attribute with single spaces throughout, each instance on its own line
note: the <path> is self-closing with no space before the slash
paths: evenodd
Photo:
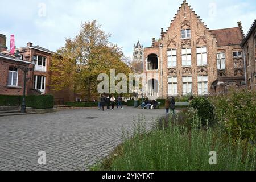
<path id="1" fill-rule="evenodd" d="M 160 30 L 167 27 L 182 0 L 12 0 L 1 1 L 0 34 L 15 35 L 15 46 L 35 46 L 56 51 L 65 38 L 73 38 L 81 22 L 96 19 L 110 42 L 123 47 L 126 56 L 133 54 L 139 40 L 151 46 Z M 187 0 L 210 29 L 237 27 L 241 21 L 245 34 L 256 19 L 255 0 Z"/>

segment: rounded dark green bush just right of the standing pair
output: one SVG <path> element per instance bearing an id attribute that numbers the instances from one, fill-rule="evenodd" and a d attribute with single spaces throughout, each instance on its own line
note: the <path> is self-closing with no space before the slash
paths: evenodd
<path id="1" fill-rule="evenodd" d="M 206 97 L 196 97 L 189 107 L 197 110 L 198 117 L 201 118 L 201 124 L 203 126 L 212 126 L 216 122 L 216 116 L 214 113 L 214 106 Z"/>

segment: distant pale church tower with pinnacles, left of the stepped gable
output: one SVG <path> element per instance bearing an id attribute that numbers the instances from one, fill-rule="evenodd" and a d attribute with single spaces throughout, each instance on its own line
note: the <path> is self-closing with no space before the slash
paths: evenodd
<path id="1" fill-rule="evenodd" d="M 143 72 L 143 60 L 144 60 L 144 49 L 143 45 L 137 42 L 136 46 L 134 44 L 133 49 L 133 71 L 142 73 Z"/>

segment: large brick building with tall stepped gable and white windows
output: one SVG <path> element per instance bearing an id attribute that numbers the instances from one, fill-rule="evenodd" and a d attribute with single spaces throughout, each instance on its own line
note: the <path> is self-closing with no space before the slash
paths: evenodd
<path id="1" fill-rule="evenodd" d="M 147 96 L 226 93 L 245 81 L 241 22 L 209 30 L 186 1 L 160 39 L 144 48 Z M 150 76 L 151 74 L 157 76 Z"/>

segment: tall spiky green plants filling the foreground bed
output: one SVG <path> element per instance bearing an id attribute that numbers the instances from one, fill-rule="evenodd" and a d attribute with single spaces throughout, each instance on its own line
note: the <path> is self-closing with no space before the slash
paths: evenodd
<path id="1" fill-rule="evenodd" d="M 164 121 L 164 119 L 162 120 Z M 118 155 L 108 166 L 94 169 L 113 171 L 195 171 L 255 170 L 255 146 L 232 139 L 224 142 L 221 129 L 201 128 L 200 119 L 193 118 L 191 130 L 171 117 L 156 123 L 150 133 L 143 118 L 135 125 L 132 138 L 126 137 Z M 217 165 L 209 164 L 209 152 L 217 152 Z M 106 163 L 106 162 L 105 162 Z"/>

